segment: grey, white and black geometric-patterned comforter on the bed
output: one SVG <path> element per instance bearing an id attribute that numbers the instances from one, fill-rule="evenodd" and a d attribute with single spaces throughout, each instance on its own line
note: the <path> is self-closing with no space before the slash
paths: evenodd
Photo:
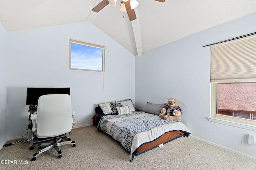
<path id="1" fill-rule="evenodd" d="M 160 119 L 158 115 L 142 111 L 126 115 L 105 115 L 101 117 L 97 128 L 111 135 L 128 150 L 130 160 L 134 158 L 134 151 L 143 145 L 154 141 L 169 131 L 183 131 L 185 136 L 190 133 L 182 122 Z"/>

